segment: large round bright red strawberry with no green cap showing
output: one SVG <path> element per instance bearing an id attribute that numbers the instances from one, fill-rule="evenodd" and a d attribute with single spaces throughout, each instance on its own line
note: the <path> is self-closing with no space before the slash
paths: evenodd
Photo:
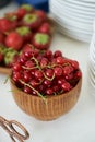
<path id="1" fill-rule="evenodd" d="M 5 45 L 7 47 L 20 50 L 23 45 L 23 37 L 16 32 L 11 32 L 5 38 Z"/>

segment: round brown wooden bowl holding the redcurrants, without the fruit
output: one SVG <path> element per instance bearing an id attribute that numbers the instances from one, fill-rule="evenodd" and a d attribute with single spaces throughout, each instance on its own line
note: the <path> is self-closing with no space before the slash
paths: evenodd
<path id="1" fill-rule="evenodd" d="M 70 92 L 49 96 L 46 99 L 46 104 L 41 97 L 24 93 L 15 86 L 12 80 L 10 81 L 13 98 L 17 106 L 29 116 L 39 120 L 54 120 L 68 113 L 76 104 L 82 86 L 82 79 L 80 79 Z"/>

